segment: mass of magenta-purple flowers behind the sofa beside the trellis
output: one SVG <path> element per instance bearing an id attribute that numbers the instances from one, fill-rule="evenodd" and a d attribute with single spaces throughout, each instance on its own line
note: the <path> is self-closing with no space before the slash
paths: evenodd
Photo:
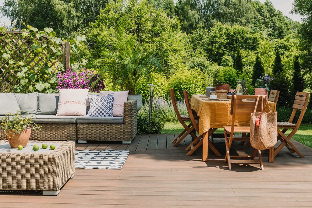
<path id="1" fill-rule="evenodd" d="M 100 92 L 105 88 L 104 80 L 92 70 L 86 68 L 77 72 L 72 68 L 65 73 L 59 72 L 57 89 L 89 89 L 90 92 Z"/>

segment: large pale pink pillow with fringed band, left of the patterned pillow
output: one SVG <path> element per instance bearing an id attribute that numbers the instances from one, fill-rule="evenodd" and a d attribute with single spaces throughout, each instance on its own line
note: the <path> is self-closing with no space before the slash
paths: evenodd
<path id="1" fill-rule="evenodd" d="M 88 89 L 59 89 L 57 116 L 85 116 Z"/>

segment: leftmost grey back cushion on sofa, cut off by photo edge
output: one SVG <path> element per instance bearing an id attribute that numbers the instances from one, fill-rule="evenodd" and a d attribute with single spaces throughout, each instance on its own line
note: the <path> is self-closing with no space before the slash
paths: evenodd
<path id="1" fill-rule="evenodd" d="M 15 113 L 20 107 L 14 93 L 0 93 L 0 115 Z"/>

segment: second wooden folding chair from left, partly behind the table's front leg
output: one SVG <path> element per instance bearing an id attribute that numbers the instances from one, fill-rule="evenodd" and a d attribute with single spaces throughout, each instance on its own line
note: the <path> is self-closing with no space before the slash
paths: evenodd
<path id="1" fill-rule="evenodd" d="M 183 91 L 183 95 L 184 95 L 184 100 L 185 100 L 185 104 L 186 104 L 186 108 L 188 109 L 188 115 L 191 119 L 193 128 L 199 132 L 199 128 L 198 128 L 198 120 L 196 120 L 193 116 L 193 111 L 191 109 L 191 104 L 189 102 L 188 99 L 188 91 L 184 90 Z M 213 133 L 215 129 L 211 130 L 211 133 Z M 203 134 L 199 135 L 185 150 L 190 150 L 186 155 L 192 155 L 193 152 L 195 152 L 195 150 L 197 150 L 201 145 L 202 145 L 202 136 Z M 215 146 L 213 146 L 213 144 L 210 142 L 210 140 L 208 139 L 208 147 L 218 156 L 221 156 L 220 152 L 215 148 Z"/>

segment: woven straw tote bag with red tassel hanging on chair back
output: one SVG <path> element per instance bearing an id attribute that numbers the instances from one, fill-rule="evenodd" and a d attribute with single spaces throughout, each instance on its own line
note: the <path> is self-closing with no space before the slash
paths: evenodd
<path id="1" fill-rule="evenodd" d="M 263 99 L 261 96 L 261 113 L 256 112 L 260 95 L 258 95 L 256 107 L 253 113 L 251 113 L 250 119 L 250 143 L 251 146 L 258 150 L 269 149 L 274 147 L 277 139 L 277 112 L 272 112 L 269 106 L 270 112 L 262 112 Z"/>

